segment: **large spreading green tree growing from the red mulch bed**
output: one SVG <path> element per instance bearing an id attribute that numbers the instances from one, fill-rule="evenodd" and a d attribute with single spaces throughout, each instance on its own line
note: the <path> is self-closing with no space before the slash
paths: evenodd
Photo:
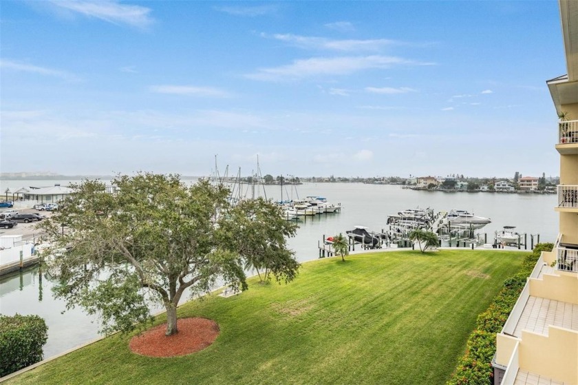
<path id="1" fill-rule="evenodd" d="M 185 291 L 195 297 L 217 282 L 247 288 L 247 250 L 266 245 L 270 258 L 282 256 L 276 274 L 286 281 L 297 274 L 283 238 L 295 234 L 295 225 L 279 221 L 272 202 L 231 207 L 222 185 L 186 186 L 177 175 L 117 176 L 113 185 L 109 194 L 102 182 L 84 180 L 58 214 L 41 222 L 52 243 L 47 264 L 58 277 L 54 295 L 67 308 L 98 313 L 105 333 L 151 321 L 151 301 L 167 309 L 166 334 L 177 333 L 176 308 Z M 255 211 L 259 227 L 244 220 Z M 258 232 L 268 225 L 271 231 Z"/>

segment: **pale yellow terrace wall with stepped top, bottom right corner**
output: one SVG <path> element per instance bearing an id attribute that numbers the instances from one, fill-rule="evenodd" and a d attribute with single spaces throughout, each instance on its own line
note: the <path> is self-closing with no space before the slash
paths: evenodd
<path id="1" fill-rule="evenodd" d="M 520 369 L 578 384 L 578 332 L 550 326 L 548 336 L 522 331 Z"/>

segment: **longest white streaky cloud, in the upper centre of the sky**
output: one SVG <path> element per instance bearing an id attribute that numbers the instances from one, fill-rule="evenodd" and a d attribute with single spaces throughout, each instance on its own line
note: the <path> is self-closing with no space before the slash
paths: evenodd
<path id="1" fill-rule="evenodd" d="M 258 81 L 283 81 L 303 79 L 310 76 L 347 75 L 361 70 L 389 68 L 394 65 L 428 65 L 396 56 L 342 56 L 335 58 L 311 58 L 295 60 L 288 65 L 261 68 L 253 74 L 246 74 L 248 79 Z"/>

